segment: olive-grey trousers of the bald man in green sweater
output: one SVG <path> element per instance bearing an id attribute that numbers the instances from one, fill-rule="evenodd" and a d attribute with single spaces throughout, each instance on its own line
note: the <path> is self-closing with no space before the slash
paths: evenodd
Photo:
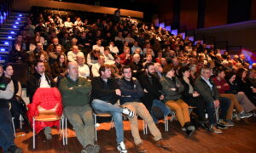
<path id="1" fill-rule="evenodd" d="M 68 105 L 64 108 L 64 115 L 84 148 L 88 144 L 94 144 L 95 128 L 90 105 Z"/>

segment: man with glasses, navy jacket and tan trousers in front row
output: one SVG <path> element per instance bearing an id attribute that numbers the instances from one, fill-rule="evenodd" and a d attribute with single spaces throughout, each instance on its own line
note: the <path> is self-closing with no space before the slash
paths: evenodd
<path id="1" fill-rule="evenodd" d="M 141 116 L 143 118 L 149 128 L 149 131 L 154 136 L 155 144 L 157 146 L 169 148 L 169 144 L 166 144 L 166 142 L 162 139 L 160 130 L 155 126 L 154 121 L 150 116 L 147 108 L 141 102 L 140 98 L 143 97 L 143 88 L 135 78 L 131 78 L 131 67 L 125 66 L 122 72 L 124 77 L 121 78 L 118 82 L 119 88 L 122 92 L 120 104 L 124 107 L 129 108 L 131 111 L 134 111 L 135 113 L 137 113 L 138 116 Z M 143 140 L 140 138 L 139 135 L 139 130 L 137 127 L 137 116 L 133 118 L 128 118 L 131 122 L 131 133 L 135 144 L 137 145 L 137 152 L 147 151 L 143 147 Z"/>

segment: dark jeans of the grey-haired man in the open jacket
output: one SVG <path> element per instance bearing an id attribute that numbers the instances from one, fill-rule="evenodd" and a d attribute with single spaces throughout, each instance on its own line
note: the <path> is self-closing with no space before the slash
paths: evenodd
<path id="1" fill-rule="evenodd" d="M 226 119 L 227 112 L 230 108 L 230 99 L 224 98 L 224 97 L 219 97 L 219 108 L 220 108 L 220 115 L 219 119 Z M 211 125 L 216 125 L 216 116 L 215 116 L 215 107 L 213 102 L 207 102 L 207 114 L 209 118 L 209 122 Z"/>

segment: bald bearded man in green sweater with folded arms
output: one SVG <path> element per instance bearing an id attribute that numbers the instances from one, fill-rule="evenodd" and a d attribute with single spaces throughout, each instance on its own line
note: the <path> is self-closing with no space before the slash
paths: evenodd
<path id="1" fill-rule="evenodd" d="M 84 147 L 81 152 L 97 153 L 100 147 L 94 144 L 95 129 L 89 104 L 91 86 L 85 78 L 79 77 L 79 67 L 76 62 L 68 63 L 67 77 L 61 79 L 59 89 L 64 115 L 73 125 L 77 138 Z"/>

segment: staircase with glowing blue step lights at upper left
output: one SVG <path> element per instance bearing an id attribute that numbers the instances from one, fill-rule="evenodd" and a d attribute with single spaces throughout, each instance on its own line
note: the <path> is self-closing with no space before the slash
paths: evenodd
<path id="1" fill-rule="evenodd" d="M 8 62 L 9 52 L 12 42 L 20 30 L 21 26 L 26 24 L 26 16 L 28 14 L 22 12 L 13 12 L 5 20 L 3 26 L 0 27 L 0 64 Z"/>

